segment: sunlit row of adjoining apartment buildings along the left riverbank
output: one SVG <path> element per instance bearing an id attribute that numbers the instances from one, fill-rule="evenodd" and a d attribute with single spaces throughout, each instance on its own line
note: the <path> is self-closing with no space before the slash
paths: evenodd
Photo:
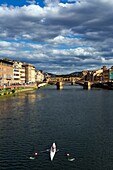
<path id="1" fill-rule="evenodd" d="M 0 86 L 44 81 L 42 70 L 17 60 L 0 59 Z"/>

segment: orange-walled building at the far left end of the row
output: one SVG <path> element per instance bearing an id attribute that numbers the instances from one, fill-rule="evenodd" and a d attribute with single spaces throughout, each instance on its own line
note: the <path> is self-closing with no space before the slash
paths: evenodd
<path id="1" fill-rule="evenodd" d="M 8 59 L 0 59 L 0 85 L 13 83 L 13 62 Z"/>

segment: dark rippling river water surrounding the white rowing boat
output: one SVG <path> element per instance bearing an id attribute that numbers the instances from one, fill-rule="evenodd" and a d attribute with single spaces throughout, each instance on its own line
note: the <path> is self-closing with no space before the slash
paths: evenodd
<path id="1" fill-rule="evenodd" d="M 49 86 L 0 98 L 0 170 L 113 170 L 113 91 Z"/>

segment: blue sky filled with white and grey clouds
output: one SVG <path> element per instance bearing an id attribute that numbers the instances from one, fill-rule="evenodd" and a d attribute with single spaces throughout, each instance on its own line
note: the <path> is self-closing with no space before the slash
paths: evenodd
<path id="1" fill-rule="evenodd" d="M 113 1 L 0 0 L 0 58 L 68 74 L 113 65 Z"/>

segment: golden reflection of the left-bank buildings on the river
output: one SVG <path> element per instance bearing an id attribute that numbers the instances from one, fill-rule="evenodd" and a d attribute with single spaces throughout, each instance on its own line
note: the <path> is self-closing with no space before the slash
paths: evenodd
<path id="1" fill-rule="evenodd" d="M 46 96 L 46 94 L 38 94 L 34 91 L 1 98 L 0 119 L 13 119 L 13 117 L 21 118 L 26 112 L 32 114 L 37 102 L 41 101 Z"/>

